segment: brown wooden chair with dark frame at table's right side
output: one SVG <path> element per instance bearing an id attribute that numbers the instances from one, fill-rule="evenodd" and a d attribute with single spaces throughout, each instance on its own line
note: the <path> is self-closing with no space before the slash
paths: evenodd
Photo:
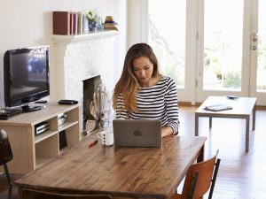
<path id="1" fill-rule="evenodd" d="M 173 195 L 172 199 L 199 199 L 205 195 L 209 189 L 208 198 L 211 199 L 214 188 L 217 172 L 221 159 L 215 157 L 198 164 L 191 165 L 186 173 L 182 194 Z"/>

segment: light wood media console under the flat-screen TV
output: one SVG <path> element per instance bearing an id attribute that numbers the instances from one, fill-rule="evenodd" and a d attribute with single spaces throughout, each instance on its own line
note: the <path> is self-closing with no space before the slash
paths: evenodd
<path id="1" fill-rule="evenodd" d="M 81 140 L 82 124 L 80 122 L 81 105 L 61 105 L 47 103 L 41 111 L 21 113 L 8 120 L 0 120 L 12 145 L 13 159 L 8 163 L 10 172 L 27 173 L 43 165 L 52 157 L 57 157 L 59 133 L 66 134 L 67 147 Z M 64 122 L 60 120 L 64 115 Z M 35 128 L 43 122 L 49 129 L 35 136 Z M 3 168 L 1 168 L 3 170 Z"/>

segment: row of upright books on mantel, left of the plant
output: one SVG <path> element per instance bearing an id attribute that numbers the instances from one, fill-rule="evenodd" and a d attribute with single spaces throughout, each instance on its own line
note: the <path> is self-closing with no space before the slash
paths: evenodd
<path id="1" fill-rule="evenodd" d="M 53 11 L 53 34 L 87 34 L 88 21 L 82 11 Z"/>

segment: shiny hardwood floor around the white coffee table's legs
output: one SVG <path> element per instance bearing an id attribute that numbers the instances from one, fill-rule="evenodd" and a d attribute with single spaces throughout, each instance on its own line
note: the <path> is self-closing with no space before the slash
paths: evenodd
<path id="1" fill-rule="evenodd" d="M 180 135 L 194 135 L 196 106 L 179 107 Z M 245 152 L 245 120 L 200 118 L 199 134 L 207 136 L 205 157 L 215 155 L 222 159 L 215 184 L 214 199 L 266 198 L 266 111 L 256 111 L 255 130 L 250 132 L 249 152 Z M 181 188 L 180 188 L 181 187 Z M 182 186 L 178 191 L 182 190 Z"/>

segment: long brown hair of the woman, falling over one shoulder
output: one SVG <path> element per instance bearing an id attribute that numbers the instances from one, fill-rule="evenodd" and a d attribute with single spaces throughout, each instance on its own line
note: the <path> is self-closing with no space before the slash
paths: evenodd
<path id="1" fill-rule="evenodd" d="M 117 81 L 113 90 L 113 109 L 116 110 L 118 96 L 122 95 L 125 109 L 137 111 L 136 95 L 139 88 L 137 77 L 133 73 L 133 61 L 138 57 L 147 57 L 153 63 L 153 77 L 158 77 L 158 60 L 153 49 L 146 43 L 137 43 L 130 47 L 125 57 L 120 80 Z"/>

